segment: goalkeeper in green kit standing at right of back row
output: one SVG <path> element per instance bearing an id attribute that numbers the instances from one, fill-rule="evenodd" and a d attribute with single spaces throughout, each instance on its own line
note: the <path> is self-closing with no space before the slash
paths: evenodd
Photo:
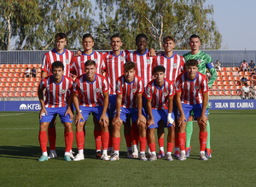
<path id="1" fill-rule="evenodd" d="M 214 65 L 212 64 L 212 58 L 209 54 L 206 54 L 200 50 L 201 46 L 201 40 L 200 37 L 197 35 L 191 35 L 189 37 L 189 46 L 191 48 L 191 52 L 188 54 L 183 54 L 183 58 L 185 61 L 188 61 L 189 59 L 197 59 L 198 61 L 198 71 L 201 72 L 202 74 L 206 75 L 207 74 L 207 69 L 211 73 L 211 77 L 208 80 L 208 87 L 211 88 L 213 82 L 215 82 L 217 78 L 217 72 L 214 68 Z M 207 105 L 207 111 L 209 109 L 209 106 Z M 189 121 L 187 122 L 187 127 L 186 127 L 186 156 L 189 157 L 189 152 L 191 150 L 190 146 L 190 139 L 191 135 L 193 133 L 193 115 L 194 112 L 191 112 L 191 115 L 189 116 Z M 212 150 L 210 147 L 210 123 L 209 120 L 207 120 L 207 149 L 206 149 L 206 156 L 207 157 L 212 157 Z"/>

